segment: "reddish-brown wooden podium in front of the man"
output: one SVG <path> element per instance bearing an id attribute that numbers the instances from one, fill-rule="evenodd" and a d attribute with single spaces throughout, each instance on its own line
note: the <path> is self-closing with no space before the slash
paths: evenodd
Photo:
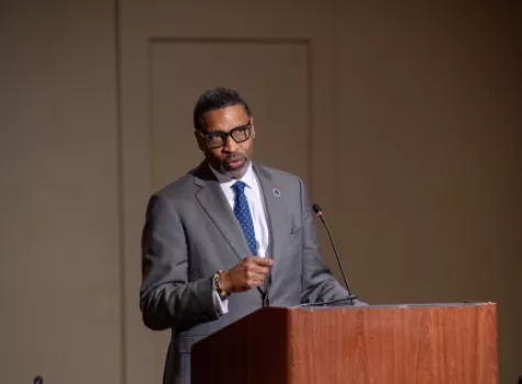
<path id="1" fill-rule="evenodd" d="M 192 384 L 498 383 L 493 303 L 259 309 L 192 348 Z"/>

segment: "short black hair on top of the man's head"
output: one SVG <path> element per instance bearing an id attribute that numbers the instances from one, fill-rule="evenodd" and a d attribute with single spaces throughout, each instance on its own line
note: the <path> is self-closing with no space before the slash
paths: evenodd
<path id="1" fill-rule="evenodd" d="M 251 108 L 240 93 L 231 88 L 212 88 L 201 94 L 193 109 L 193 126 L 197 131 L 203 131 L 201 117 L 210 111 L 220 110 L 232 105 L 243 105 L 248 117 L 252 116 Z"/>

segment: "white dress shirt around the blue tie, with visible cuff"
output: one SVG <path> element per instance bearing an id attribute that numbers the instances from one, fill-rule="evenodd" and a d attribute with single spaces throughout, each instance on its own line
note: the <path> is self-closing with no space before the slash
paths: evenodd
<path id="1" fill-rule="evenodd" d="M 243 174 L 241 179 L 232 179 L 226 174 L 218 172 L 212 167 L 210 167 L 210 169 L 218 179 L 221 190 L 223 191 L 232 211 L 234 211 L 235 205 L 235 193 L 232 189 L 232 185 L 234 185 L 240 180 L 246 184 L 245 196 L 246 201 L 248 202 L 248 208 L 251 210 L 252 221 L 254 222 L 254 231 L 256 235 L 257 242 L 257 255 L 255 256 L 265 257 L 270 241 L 268 225 L 266 221 L 265 202 L 263 199 L 259 182 L 254 172 L 254 169 L 252 168 L 252 162 L 248 163 L 247 167 L 248 168 L 246 169 L 245 174 Z M 221 314 L 226 314 L 229 312 L 229 301 L 222 301 L 218 292 L 215 291 L 214 304 L 216 305 L 216 308 Z"/>

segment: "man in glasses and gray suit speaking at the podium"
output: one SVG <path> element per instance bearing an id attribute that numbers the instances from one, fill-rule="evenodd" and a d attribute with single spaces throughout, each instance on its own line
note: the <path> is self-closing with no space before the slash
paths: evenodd
<path id="1" fill-rule="evenodd" d="M 263 306 L 343 300 L 318 252 L 304 185 L 252 161 L 256 131 L 237 92 L 195 108 L 204 161 L 155 193 L 143 229 L 145 325 L 171 329 L 164 383 L 190 383 L 191 346 Z"/>

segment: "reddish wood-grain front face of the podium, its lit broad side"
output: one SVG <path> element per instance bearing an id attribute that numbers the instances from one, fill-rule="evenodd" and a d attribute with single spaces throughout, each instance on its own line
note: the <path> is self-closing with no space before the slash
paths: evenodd
<path id="1" fill-rule="evenodd" d="M 493 305 L 300 310 L 289 316 L 292 383 L 498 382 Z"/>

